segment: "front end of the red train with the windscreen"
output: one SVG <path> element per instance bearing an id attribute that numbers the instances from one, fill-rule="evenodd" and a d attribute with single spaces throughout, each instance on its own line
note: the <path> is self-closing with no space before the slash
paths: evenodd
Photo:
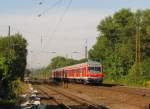
<path id="1" fill-rule="evenodd" d="M 103 82 L 102 64 L 96 61 L 88 61 L 87 83 L 101 84 Z"/>

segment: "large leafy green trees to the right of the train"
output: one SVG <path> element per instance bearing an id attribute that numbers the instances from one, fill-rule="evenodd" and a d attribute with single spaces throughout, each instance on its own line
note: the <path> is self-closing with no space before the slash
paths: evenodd
<path id="1" fill-rule="evenodd" d="M 89 50 L 89 58 L 101 61 L 105 78 L 112 81 L 143 84 L 149 80 L 150 63 L 150 10 L 121 9 L 106 17 L 97 26 L 97 42 Z M 141 36 L 141 60 L 135 62 L 137 28 Z M 138 68 L 137 68 L 138 67 Z"/>

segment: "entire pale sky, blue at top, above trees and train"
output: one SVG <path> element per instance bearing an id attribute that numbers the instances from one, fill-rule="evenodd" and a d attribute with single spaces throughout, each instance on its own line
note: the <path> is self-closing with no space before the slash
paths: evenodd
<path id="1" fill-rule="evenodd" d="M 28 41 L 27 67 L 43 67 L 58 55 L 84 58 L 86 40 L 89 50 L 97 25 L 119 9 L 149 7 L 149 0 L 0 0 L 0 36 L 10 25 Z"/>

